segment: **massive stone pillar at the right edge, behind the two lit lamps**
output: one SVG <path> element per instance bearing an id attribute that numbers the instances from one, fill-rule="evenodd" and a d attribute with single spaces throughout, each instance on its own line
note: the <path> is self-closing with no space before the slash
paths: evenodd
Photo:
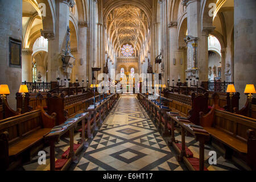
<path id="1" fill-rule="evenodd" d="M 246 84 L 256 86 L 255 9 L 255 0 L 234 0 L 234 85 L 240 92 L 241 107 L 246 102 Z"/>

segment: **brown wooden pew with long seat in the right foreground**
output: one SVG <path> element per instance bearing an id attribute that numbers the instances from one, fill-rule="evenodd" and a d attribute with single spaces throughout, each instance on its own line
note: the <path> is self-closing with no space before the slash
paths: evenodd
<path id="1" fill-rule="evenodd" d="M 220 110 L 218 95 L 208 114 L 200 113 L 200 125 L 225 147 L 225 158 L 238 156 L 256 169 L 256 119 Z"/>

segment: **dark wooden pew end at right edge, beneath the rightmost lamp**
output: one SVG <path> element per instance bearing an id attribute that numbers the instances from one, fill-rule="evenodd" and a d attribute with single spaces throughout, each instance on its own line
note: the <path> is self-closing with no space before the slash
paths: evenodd
<path id="1" fill-rule="evenodd" d="M 256 98 L 252 98 L 251 101 L 247 99 L 245 106 L 241 110 L 238 110 L 238 107 L 234 107 L 234 113 L 256 119 Z"/>

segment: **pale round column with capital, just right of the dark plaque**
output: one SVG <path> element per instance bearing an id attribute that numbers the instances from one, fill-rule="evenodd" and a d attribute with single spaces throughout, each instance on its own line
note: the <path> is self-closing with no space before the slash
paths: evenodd
<path id="1" fill-rule="evenodd" d="M 32 82 L 32 53 L 31 49 L 22 49 L 22 81 Z"/>

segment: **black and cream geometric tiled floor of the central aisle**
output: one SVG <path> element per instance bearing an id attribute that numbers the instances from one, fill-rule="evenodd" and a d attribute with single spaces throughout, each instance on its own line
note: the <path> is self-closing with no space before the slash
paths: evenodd
<path id="1" fill-rule="evenodd" d="M 176 139 L 181 140 L 179 133 Z M 79 140 L 79 134 L 75 139 Z M 80 153 L 79 162 L 73 163 L 69 170 L 75 171 L 130 171 L 130 170 L 187 170 L 183 162 L 177 162 L 176 151 L 168 147 L 146 111 L 134 96 L 121 96 L 113 110 L 104 121 L 94 138 L 90 140 L 89 147 Z M 68 148 L 68 138 L 62 138 L 56 145 L 56 158 Z M 199 156 L 199 143 L 195 138 L 186 137 L 187 147 L 194 156 Z M 49 147 L 47 152 L 47 165 L 39 166 L 36 156 L 30 163 L 25 164 L 25 170 L 48 170 Z M 238 170 L 228 160 L 222 158 L 217 152 L 217 165 L 208 164 L 208 152 L 214 150 L 212 146 L 205 146 L 205 166 L 209 170 Z"/>

